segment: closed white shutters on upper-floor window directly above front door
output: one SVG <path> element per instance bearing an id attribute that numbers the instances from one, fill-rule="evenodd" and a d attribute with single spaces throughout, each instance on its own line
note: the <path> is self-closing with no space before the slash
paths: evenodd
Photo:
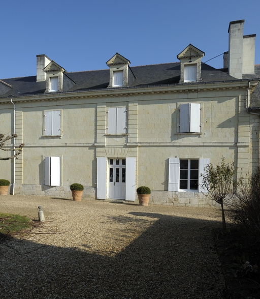
<path id="1" fill-rule="evenodd" d="M 126 133 L 126 109 L 125 107 L 108 108 L 108 134 Z"/>

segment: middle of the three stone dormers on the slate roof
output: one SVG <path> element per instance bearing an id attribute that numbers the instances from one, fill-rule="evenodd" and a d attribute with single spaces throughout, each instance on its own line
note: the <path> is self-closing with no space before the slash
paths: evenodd
<path id="1" fill-rule="evenodd" d="M 129 67 L 129 64 L 128 59 L 118 53 L 109 59 L 107 62 L 110 68 L 108 88 L 131 86 L 135 80 L 135 75 Z"/>

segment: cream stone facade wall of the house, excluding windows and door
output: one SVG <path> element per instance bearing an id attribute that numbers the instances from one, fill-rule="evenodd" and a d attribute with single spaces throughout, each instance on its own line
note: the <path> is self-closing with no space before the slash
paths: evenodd
<path id="1" fill-rule="evenodd" d="M 168 161 L 209 158 L 216 164 L 225 157 L 239 172 L 250 172 L 259 163 L 259 119 L 247 113 L 246 98 L 247 82 L 226 82 L 135 88 L 132 95 L 128 90 L 82 92 L 73 100 L 67 93 L 16 99 L 16 130 L 26 145 L 16 161 L 15 192 L 68 197 L 69 186 L 79 182 L 85 198 L 96 198 L 96 158 L 135 157 L 136 186 L 152 189 L 152 203 L 212 205 L 200 192 L 168 191 Z M 190 102 L 201 104 L 201 132 L 180 134 L 178 108 Z M 126 107 L 127 134 L 106 134 L 109 107 Z M 52 109 L 62 111 L 62 134 L 46 137 L 44 111 Z M 12 115 L 12 104 L 2 104 L 3 132 L 11 130 Z M 48 156 L 61 159 L 60 186 L 44 185 Z M 2 164 L 1 176 L 10 178 L 12 162 Z"/>

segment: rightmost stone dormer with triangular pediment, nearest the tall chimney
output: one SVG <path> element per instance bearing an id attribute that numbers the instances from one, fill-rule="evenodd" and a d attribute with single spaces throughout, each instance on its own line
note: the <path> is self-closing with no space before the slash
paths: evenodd
<path id="1" fill-rule="evenodd" d="M 177 58 L 181 62 L 181 76 L 179 83 L 200 82 L 201 59 L 204 52 L 189 44 Z"/>

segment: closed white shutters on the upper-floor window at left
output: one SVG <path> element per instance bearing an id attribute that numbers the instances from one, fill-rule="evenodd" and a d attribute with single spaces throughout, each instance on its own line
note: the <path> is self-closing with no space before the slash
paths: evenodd
<path id="1" fill-rule="evenodd" d="M 62 110 L 44 110 L 43 136 L 61 136 Z"/>

